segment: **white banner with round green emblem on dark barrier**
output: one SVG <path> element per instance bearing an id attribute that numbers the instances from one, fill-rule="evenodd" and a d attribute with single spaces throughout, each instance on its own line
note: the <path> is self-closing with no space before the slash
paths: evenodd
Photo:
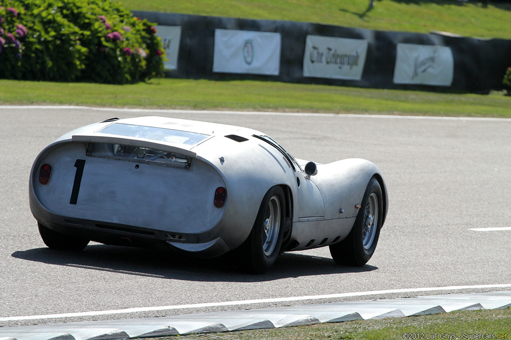
<path id="1" fill-rule="evenodd" d="M 278 76 L 281 34 L 215 30 L 213 72 Z"/>

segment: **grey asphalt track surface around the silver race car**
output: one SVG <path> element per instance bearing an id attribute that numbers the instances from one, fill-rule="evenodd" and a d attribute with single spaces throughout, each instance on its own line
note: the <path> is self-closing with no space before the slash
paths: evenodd
<path id="1" fill-rule="evenodd" d="M 28 204 L 37 154 L 74 128 L 143 115 L 257 129 L 295 157 L 321 163 L 374 162 L 390 196 L 375 255 L 353 268 L 336 265 L 328 248 L 285 253 L 268 273 L 248 275 L 219 260 L 144 249 L 45 247 Z M 0 119 L 0 326 L 511 286 L 511 119 L 8 106 Z"/>

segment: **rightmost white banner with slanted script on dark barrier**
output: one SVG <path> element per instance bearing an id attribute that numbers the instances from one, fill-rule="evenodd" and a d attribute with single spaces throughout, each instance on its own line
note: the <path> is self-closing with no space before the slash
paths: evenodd
<path id="1" fill-rule="evenodd" d="M 394 84 L 451 86 L 453 74 L 450 47 L 398 44 Z"/>

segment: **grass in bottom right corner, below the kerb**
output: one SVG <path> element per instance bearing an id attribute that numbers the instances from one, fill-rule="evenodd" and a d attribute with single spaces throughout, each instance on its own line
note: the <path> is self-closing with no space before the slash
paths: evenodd
<path id="1" fill-rule="evenodd" d="M 484 335 L 477 335 L 484 334 Z M 454 311 L 420 317 L 350 321 L 221 334 L 172 336 L 158 340 L 403 340 L 511 339 L 511 309 Z"/>

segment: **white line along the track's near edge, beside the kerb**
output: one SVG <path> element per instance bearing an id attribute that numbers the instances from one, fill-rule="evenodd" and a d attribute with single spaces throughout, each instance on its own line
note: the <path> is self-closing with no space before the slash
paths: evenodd
<path id="1" fill-rule="evenodd" d="M 367 295 L 435 292 L 438 290 L 492 289 L 492 288 L 510 288 L 510 287 L 511 287 L 511 284 L 483 284 L 483 285 L 471 285 L 471 286 L 387 289 L 387 290 L 372 290 L 370 292 L 296 296 L 296 297 L 288 297 L 288 298 L 255 299 L 255 300 L 226 301 L 226 302 L 208 302 L 208 303 L 195 303 L 195 304 L 187 304 L 187 305 L 126 308 L 126 309 L 116 309 L 116 310 L 100 310 L 100 311 L 62 313 L 62 314 L 27 315 L 27 316 L 23 316 L 23 317 L 0 318 L 0 321 L 76 318 L 76 317 L 90 317 L 90 316 L 94 316 L 94 315 L 123 314 L 123 313 L 135 313 L 135 312 L 147 312 L 147 311 L 172 310 L 172 309 L 187 309 L 187 308 L 238 306 L 238 305 L 249 305 L 249 304 L 258 304 L 258 303 L 275 303 L 275 302 L 302 301 L 302 300 L 336 299 L 336 298 L 347 298 L 347 297 L 357 297 L 357 296 L 367 296 Z"/>

